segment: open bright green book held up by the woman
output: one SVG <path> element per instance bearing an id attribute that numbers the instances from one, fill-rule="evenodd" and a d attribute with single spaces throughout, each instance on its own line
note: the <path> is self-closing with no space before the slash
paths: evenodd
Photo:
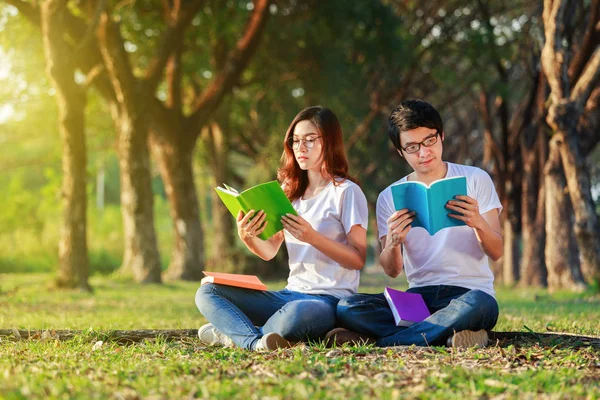
<path id="1" fill-rule="evenodd" d="M 259 238 L 267 240 L 277 232 L 283 229 L 281 217 L 285 214 L 298 215 L 292 203 L 287 198 L 281 186 L 277 181 L 261 183 L 239 193 L 231 186 L 216 187 L 217 194 L 227 207 L 231 215 L 237 218 L 238 212 L 242 210 L 247 213 L 254 210 L 257 213 L 263 210 L 267 214 L 266 220 L 269 222 Z"/>

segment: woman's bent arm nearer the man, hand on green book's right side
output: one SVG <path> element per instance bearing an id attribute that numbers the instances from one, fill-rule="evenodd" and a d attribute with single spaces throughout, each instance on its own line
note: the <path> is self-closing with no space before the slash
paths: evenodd
<path id="1" fill-rule="evenodd" d="M 346 244 L 336 242 L 317 232 L 304 218 L 287 214 L 283 227 L 296 239 L 305 242 L 348 269 L 360 270 L 367 257 L 367 230 L 354 225 L 346 235 Z"/>

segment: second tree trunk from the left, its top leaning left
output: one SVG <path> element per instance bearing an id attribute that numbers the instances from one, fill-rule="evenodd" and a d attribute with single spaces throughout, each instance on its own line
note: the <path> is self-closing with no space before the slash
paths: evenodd
<path id="1" fill-rule="evenodd" d="M 102 14 L 98 27 L 100 52 L 116 94 L 111 106 L 118 135 L 121 214 L 125 252 L 121 274 L 137 282 L 160 283 L 160 255 L 154 230 L 154 198 L 148 151 L 151 94 L 133 75 L 119 27 Z"/>

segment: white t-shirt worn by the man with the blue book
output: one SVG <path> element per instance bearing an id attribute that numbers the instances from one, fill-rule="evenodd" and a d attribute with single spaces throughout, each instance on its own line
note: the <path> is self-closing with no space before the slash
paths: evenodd
<path id="1" fill-rule="evenodd" d="M 447 178 L 467 178 L 467 195 L 477 200 L 481 214 L 495 208 L 498 209 L 498 213 L 502 211 L 494 183 L 485 171 L 466 165 L 447 165 Z M 379 240 L 387 236 L 386 221 L 395 212 L 391 186 L 406 182 L 406 179 L 405 176 L 388 186 L 377 199 Z M 473 228 L 445 228 L 433 236 L 424 228 L 412 228 L 402 245 L 404 270 L 409 287 L 453 285 L 479 289 L 495 296 L 494 275 Z"/>

